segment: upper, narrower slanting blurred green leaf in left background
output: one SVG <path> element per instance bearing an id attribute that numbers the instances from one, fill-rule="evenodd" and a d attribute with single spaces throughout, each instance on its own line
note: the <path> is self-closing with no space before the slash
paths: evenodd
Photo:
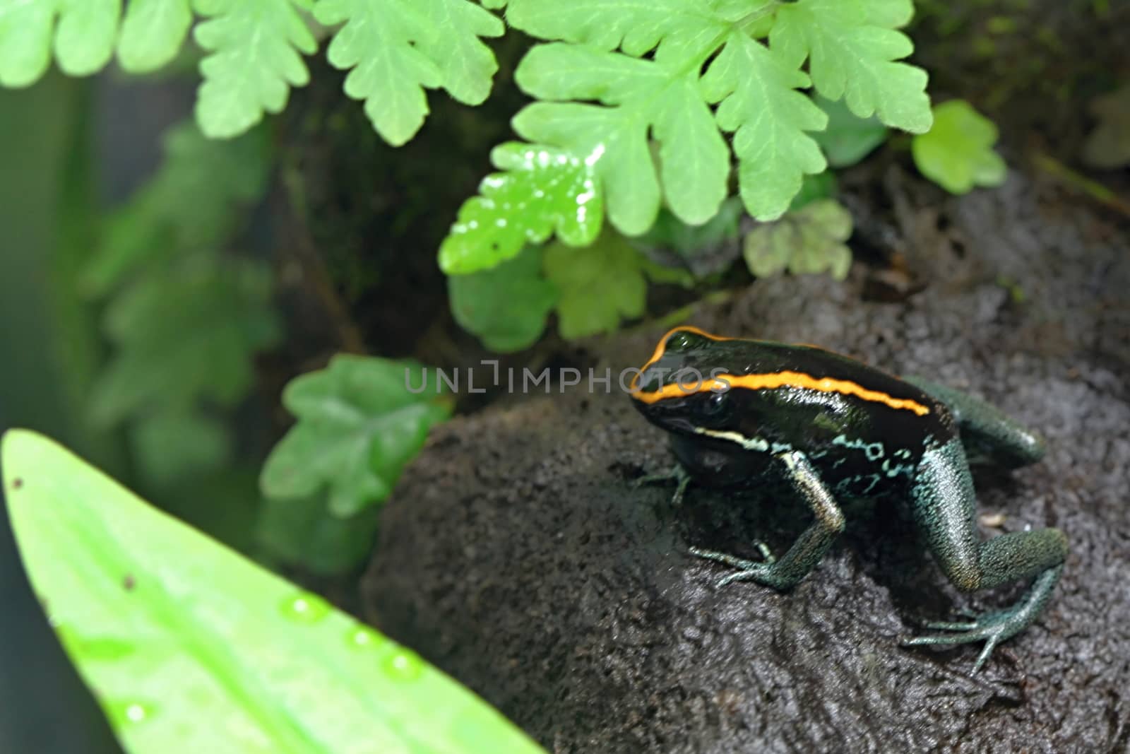
<path id="1" fill-rule="evenodd" d="M 105 295 L 145 262 L 218 246 L 242 206 L 267 187 L 267 137 L 257 129 L 215 141 L 193 123 L 171 129 L 157 174 L 111 217 L 85 270 L 86 288 Z"/>

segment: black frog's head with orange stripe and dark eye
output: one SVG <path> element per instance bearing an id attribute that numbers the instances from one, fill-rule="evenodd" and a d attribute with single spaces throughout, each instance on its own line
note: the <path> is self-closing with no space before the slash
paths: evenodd
<path id="1" fill-rule="evenodd" d="M 675 328 L 632 380 L 633 402 L 647 421 L 669 432 L 727 428 L 734 407 L 725 375 L 744 371 L 742 354 L 734 347 L 741 343 L 693 327 Z"/>

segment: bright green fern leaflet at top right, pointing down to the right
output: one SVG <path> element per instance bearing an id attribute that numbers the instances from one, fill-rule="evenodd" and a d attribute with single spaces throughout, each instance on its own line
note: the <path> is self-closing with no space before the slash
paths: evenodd
<path id="1" fill-rule="evenodd" d="M 913 15 L 911 0 L 798 0 L 777 9 L 770 44 L 791 67 L 809 58 L 816 89 L 844 97 L 855 115 L 878 113 L 887 125 L 923 133 L 931 123 L 925 71 L 896 62 L 914 51 L 895 31 Z"/>

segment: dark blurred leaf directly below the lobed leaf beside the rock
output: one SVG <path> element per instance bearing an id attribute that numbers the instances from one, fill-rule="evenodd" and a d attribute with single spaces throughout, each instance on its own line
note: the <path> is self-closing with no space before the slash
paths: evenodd
<path id="1" fill-rule="evenodd" d="M 373 551 L 377 520 L 372 508 L 337 517 L 321 495 L 268 499 L 255 532 L 268 553 L 285 563 L 320 575 L 340 575 L 362 565 Z"/>

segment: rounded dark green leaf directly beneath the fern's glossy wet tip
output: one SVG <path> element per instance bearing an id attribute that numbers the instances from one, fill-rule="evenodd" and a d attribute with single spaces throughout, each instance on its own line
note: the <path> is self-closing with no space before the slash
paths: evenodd
<path id="1" fill-rule="evenodd" d="M 510 353 L 537 343 L 557 291 L 541 275 L 541 249 L 528 246 L 502 265 L 447 278 L 451 312 L 487 348 Z"/>

